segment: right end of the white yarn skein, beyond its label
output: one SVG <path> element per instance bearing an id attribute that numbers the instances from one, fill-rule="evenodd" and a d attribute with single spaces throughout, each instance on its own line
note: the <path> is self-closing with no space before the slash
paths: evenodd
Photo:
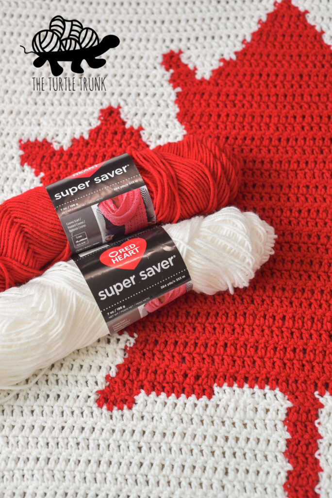
<path id="1" fill-rule="evenodd" d="M 164 228 L 187 265 L 193 290 L 204 294 L 247 287 L 273 254 L 276 239 L 266 222 L 235 207 Z"/>

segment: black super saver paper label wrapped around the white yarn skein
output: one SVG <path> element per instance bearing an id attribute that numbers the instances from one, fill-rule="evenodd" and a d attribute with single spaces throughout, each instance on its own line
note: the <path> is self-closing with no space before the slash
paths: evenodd
<path id="1" fill-rule="evenodd" d="M 188 269 L 161 227 L 73 257 L 110 333 L 118 332 L 191 289 Z"/>

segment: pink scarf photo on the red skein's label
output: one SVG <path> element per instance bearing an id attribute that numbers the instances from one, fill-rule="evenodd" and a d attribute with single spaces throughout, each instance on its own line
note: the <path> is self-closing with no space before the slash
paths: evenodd
<path id="1" fill-rule="evenodd" d="M 103 216 L 113 225 L 124 225 L 125 234 L 148 226 L 147 214 L 140 189 L 131 190 L 99 204 Z"/>

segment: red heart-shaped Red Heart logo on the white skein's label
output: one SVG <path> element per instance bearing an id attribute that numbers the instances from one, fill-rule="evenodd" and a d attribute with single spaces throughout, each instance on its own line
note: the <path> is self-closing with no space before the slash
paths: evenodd
<path id="1" fill-rule="evenodd" d="M 99 259 L 102 264 L 112 268 L 134 270 L 141 261 L 146 248 L 147 241 L 138 237 L 124 242 L 121 246 L 106 249 L 100 254 Z"/>

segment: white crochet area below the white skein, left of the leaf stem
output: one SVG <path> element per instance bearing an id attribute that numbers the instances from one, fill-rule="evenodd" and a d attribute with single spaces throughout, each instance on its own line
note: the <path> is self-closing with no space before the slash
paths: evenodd
<path id="1" fill-rule="evenodd" d="M 133 409 L 96 407 L 94 391 L 133 342 L 113 336 L 73 353 L 0 408 L 0 496 L 285 496 L 290 403 L 278 390 L 216 387 L 210 400 L 142 391 Z"/>

